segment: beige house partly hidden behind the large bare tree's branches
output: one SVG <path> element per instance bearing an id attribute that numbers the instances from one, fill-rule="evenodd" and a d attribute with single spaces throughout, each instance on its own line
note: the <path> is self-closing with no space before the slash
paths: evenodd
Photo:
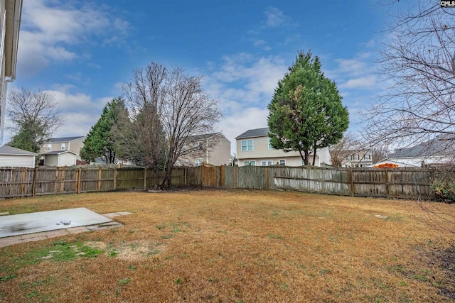
<path id="1" fill-rule="evenodd" d="M 230 160 L 230 141 L 223 133 L 190 136 L 183 145 L 178 166 L 200 166 L 203 163 L 220 166 Z"/>

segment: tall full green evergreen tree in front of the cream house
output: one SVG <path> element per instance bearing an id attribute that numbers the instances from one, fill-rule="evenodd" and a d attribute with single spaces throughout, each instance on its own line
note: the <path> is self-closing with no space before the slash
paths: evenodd
<path id="1" fill-rule="evenodd" d="M 319 57 L 311 52 L 299 52 L 279 80 L 268 109 L 273 148 L 298 151 L 305 165 L 310 153 L 340 141 L 349 125 L 335 82 L 323 75 Z M 316 156 L 313 165 L 315 160 Z"/>

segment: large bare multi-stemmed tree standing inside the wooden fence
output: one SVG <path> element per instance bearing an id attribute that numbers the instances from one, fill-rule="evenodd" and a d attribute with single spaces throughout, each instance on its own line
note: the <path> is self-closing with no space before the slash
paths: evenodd
<path id="1" fill-rule="evenodd" d="M 210 133 L 221 117 L 218 101 L 208 97 L 201 80 L 180 67 L 168 70 L 152 62 L 145 70 L 133 70 L 132 81 L 123 85 L 132 121 L 147 113 L 144 121 L 149 127 L 143 123 L 135 128 L 141 146 L 150 156 L 164 151 L 161 187 L 172 187 L 172 170 L 188 137 Z"/>

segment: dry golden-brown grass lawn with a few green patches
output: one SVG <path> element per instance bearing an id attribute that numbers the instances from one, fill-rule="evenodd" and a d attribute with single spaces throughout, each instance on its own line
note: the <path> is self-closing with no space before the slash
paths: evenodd
<path id="1" fill-rule="evenodd" d="M 133 214 L 0 248 L 0 302 L 453 300 L 455 264 L 439 256 L 454 235 L 429 228 L 412 201 L 203 190 L 0 202 L 11 214 L 74 207 Z"/>

